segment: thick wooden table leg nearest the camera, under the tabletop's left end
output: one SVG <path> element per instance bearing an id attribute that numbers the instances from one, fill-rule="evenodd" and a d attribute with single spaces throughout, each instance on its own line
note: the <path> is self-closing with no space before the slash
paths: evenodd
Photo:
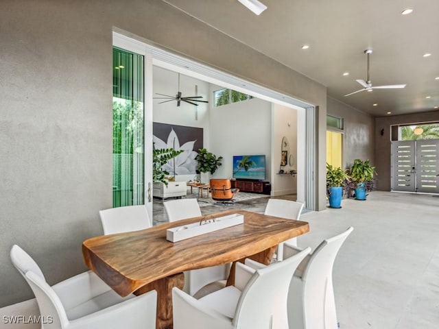
<path id="1" fill-rule="evenodd" d="M 183 273 L 174 274 L 160 280 L 156 280 L 141 287 L 134 292 L 141 295 L 155 289 L 157 291 L 157 321 L 156 329 L 172 329 L 172 288 L 183 289 L 185 276 Z"/>

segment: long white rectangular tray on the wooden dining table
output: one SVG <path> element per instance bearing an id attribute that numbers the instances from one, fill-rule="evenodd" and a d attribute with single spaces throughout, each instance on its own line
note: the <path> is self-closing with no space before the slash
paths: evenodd
<path id="1" fill-rule="evenodd" d="M 230 228 L 230 226 L 235 226 L 244 223 L 244 215 L 232 214 L 223 217 L 203 219 L 202 224 L 200 222 L 191 223 L 188 225 L 178 226 L 176 228 L 168 228 L 166 230 L 167 241 L 177 242 L 193 236 L 198 236 L 201 234 L 206 234 L 216 230 L 221 230 L 223 228 Z"/>

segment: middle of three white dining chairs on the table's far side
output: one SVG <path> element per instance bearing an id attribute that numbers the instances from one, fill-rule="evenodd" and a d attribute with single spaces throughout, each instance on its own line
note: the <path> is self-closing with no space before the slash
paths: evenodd
<path id="1" fill-rule="evenodd" d="M 163 205 L 170 222 L 202 215 L 197 199 L 169 200 L 163 202 Z M 226 284 L 230 267 L 231 264 L 229 263 L 185 271 L 185 287 L 183 287 L 183 290 L 189 295 L 195 295 L 208 284 L 211 284 L 211 287 L 206 288 L 206 290 L 220 289 Z"/>

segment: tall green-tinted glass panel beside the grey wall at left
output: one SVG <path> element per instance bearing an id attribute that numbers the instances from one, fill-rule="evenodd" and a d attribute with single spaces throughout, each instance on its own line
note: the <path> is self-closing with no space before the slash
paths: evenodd
<path id="1" fill-rule="evenodd" d="M 113 47 L 112 206 L 144 203 L 143 56 Z"/>

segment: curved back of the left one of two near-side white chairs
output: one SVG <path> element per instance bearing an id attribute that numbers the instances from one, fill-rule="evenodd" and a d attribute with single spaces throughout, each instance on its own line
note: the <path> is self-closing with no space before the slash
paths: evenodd
<path id="1" fill-rule="evenodd" d="M 234 328 L 288 328 L 287 293 L 292 275 L 311 248 L 257 269 L 239 297 Z"/>

